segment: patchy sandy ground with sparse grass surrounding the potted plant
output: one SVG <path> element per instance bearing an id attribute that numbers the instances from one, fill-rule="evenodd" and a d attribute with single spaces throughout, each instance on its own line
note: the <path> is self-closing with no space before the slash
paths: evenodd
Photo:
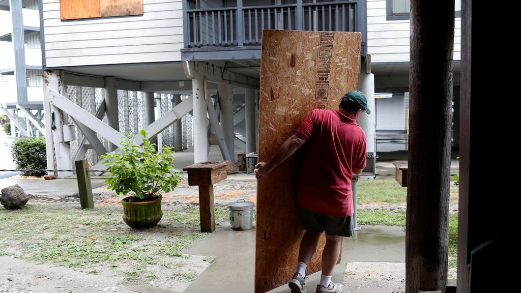
<path id="1" fill-rule="evenodd" d="M 224 184 L 223 184 L 224 183 Z M 217 228 L 226 203 L 255 201 L 256 182 L 216 185 Z M 146 285 L 182 292 L 214 261 L 183 250 L 204 239 L 197 187 L 182 185 L 163 197 L 163 219 L 151 229 L 129 228 L 106 187 L 93 190 L 95 209 L 77 198 L 35 197 L 26 208 L 0 206 L 0 292 L 132 292 Z"/>

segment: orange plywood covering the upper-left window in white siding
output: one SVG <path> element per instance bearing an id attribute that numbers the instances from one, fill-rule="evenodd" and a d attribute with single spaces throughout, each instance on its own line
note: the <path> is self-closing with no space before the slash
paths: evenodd
<path id="1" fill-rule="evenodd" d="M 143 0 L 61 0 L 61 20 L 143 15 Z"/>

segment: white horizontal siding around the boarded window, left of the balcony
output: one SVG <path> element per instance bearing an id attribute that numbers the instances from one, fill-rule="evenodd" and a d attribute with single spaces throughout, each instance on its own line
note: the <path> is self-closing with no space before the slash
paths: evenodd
<path id="1" fill-rule="evenodd" d="M 142 16 L 60 20 L 59 0 L 43 0 L 47 67 L 180 60 L 182 1 L 143 0 Z"/>

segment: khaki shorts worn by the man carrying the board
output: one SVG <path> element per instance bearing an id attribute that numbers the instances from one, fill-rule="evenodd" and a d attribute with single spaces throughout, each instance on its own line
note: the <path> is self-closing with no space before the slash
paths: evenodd
<path id="1" fill-rule="evenodd" d="M 355 234 L 353 216 L 339 217 L 312 212 L 299 206 L 300 221 L 304 230 L 316 233 L 326 231 L 326 235 L 351 237 Z"/>

